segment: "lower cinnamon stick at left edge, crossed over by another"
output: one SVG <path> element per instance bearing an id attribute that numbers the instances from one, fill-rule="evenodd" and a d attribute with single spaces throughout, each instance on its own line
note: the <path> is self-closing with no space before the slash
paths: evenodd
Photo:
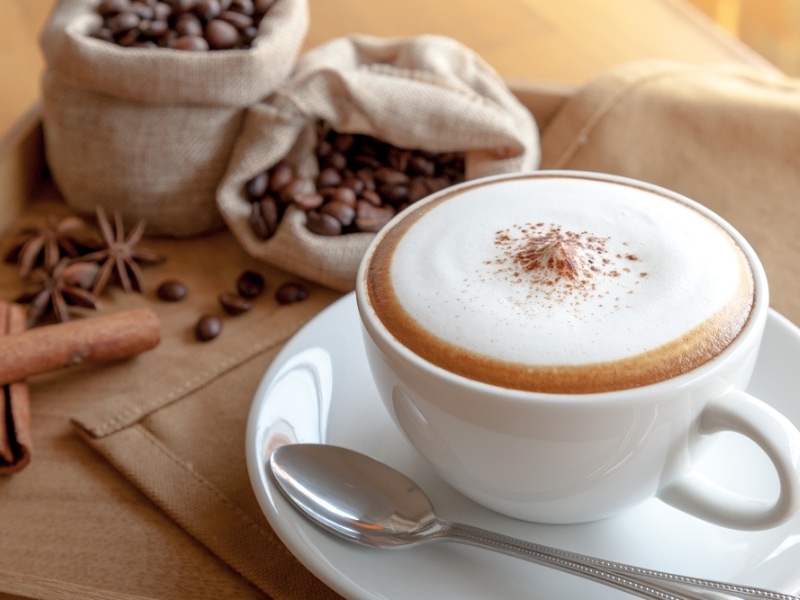
<path id="1" fill-rule="evenodd" d="M 0 339 L 25 331 L 25 309 L 0 302 Z M 33 450 L 28 384 L 2 386 L 0 396 L 0 475 L 16 473 L 30 462 Z"/>

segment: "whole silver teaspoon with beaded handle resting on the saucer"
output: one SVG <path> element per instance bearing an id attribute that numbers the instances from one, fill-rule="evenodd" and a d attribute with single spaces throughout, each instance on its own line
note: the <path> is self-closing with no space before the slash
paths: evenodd
<path id="1" fill-rule="evenodd" d="M 440 520 L 425 492 L 411 479 L 347 448 L 282 446 L 272 453 L 270 468 L 279 489 L 301 513 L 324 529 L 365 546 L 461 542 L 579 575 L 641 598 L 800 600 L 781 592 L 642 569 Z"/>

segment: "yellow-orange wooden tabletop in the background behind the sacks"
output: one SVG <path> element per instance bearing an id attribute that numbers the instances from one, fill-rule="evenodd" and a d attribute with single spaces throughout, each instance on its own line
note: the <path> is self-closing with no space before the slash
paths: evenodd
<path id="1" fill-rule="evenodd" d="M 55 0 L 0 3 L 0 138 L 35 102 L 38 34 Z M 771 68 L 682 0 L 310 0 L 307 46 L 355 32 L 437 33 L 477 50 L 509 79 L 580 84 L 640 58 L 737 61 Z M 454 7 L 458 7 L 454 10 Z"/>

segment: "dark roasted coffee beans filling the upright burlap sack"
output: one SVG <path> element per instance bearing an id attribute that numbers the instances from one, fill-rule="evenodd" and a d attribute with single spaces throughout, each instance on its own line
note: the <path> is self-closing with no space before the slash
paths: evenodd
<path id="1" fill-rule="evenodd" d="M 176 50 L 249 48 L 278 0 L 100 0 L 92 37 L 120 46 Z"/>

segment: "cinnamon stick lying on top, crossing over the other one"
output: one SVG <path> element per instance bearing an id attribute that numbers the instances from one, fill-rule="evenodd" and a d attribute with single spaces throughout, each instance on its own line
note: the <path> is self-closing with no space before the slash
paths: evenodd
<path id="1" fill-rule="evenodd" d="M 161 340 L 149 308 L 88 317 L 0 336 L 0 385 L 65 367 L 128 358 Z"/>

